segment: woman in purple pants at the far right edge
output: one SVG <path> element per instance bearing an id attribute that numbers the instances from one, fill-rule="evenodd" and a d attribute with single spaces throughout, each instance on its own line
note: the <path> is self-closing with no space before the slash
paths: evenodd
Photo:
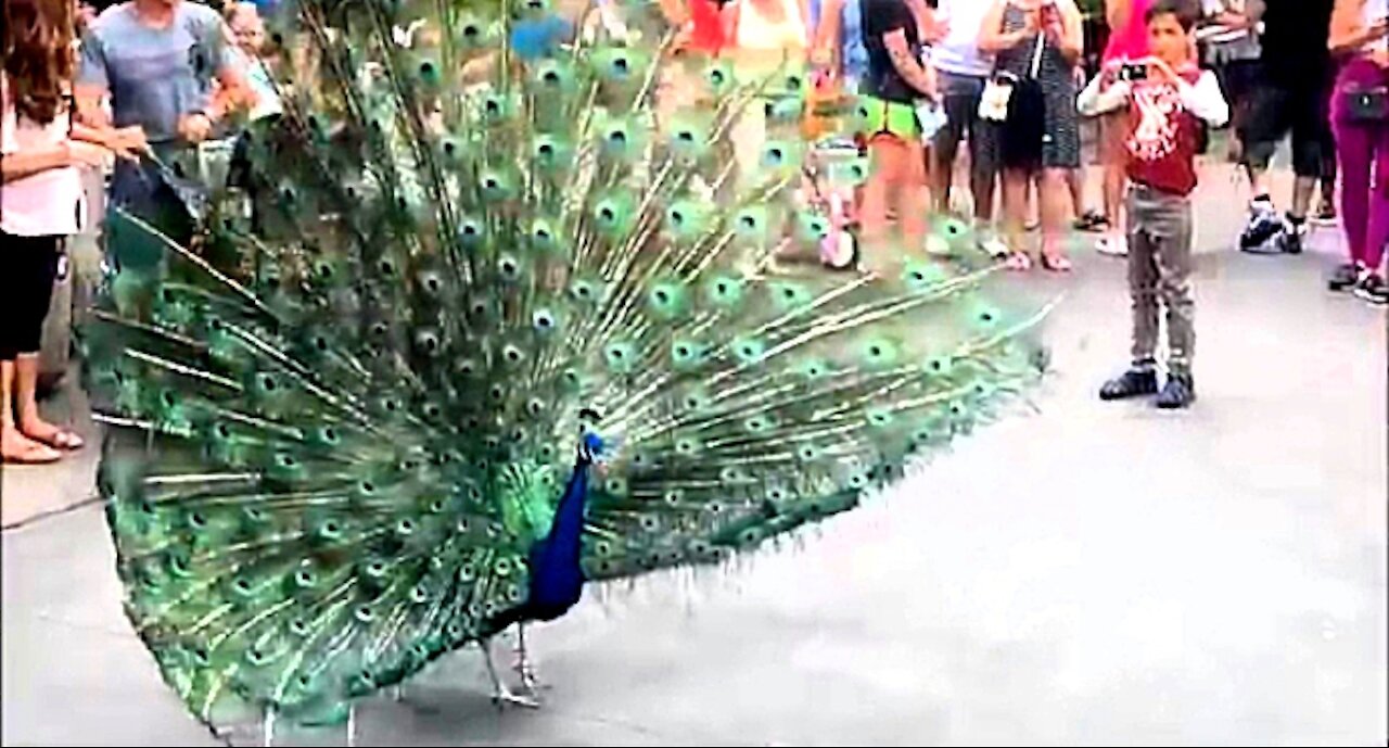
<path id="1" fill-rule="evenodd" d="M 1389 3 L 1336 0 L 1331 51 L 1343 57 L 1331 103 L 1340 160 L 1340 220 L 1350 263 L 1328 284 L 1389 302 L 1381 264 L 1389 242 Z"/>

